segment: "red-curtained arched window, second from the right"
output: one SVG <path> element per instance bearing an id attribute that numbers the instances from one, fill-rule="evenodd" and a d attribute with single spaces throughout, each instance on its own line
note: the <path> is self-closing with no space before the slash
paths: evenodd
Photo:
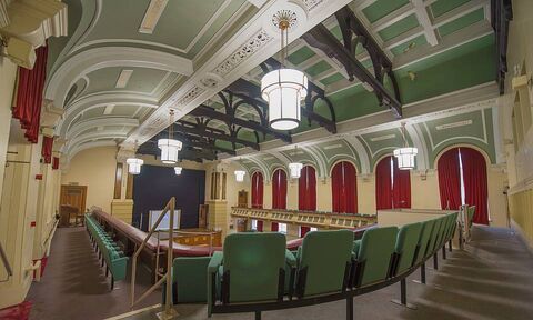
<path id="1" fill-rule="evenodd" d="M 411 208 L 410 170 L 400 170 L 392 156 L 381 159 L 375 167 L 375 208 Z"/>

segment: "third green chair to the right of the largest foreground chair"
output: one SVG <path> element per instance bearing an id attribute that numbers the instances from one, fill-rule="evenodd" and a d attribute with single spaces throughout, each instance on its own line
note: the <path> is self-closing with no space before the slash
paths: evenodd
<path id="1" fill-rule="evenodd" d="M 400 228 L 394 248 L 394 274 L 401 274 L 413 267 L 419 248 L 422 223 L 410 223 Z"/>

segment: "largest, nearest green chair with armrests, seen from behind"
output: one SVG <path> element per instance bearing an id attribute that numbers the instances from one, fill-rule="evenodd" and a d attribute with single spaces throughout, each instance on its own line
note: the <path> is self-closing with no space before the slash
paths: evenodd
<path id="1" fill-rule="evenodd" d="M 282 300 L 285 261 L 295 262 L 285 246 L 285 236 L 279 232 L 228 236 L 223 253 L 215 252 L 208 266 L 208 314 L 219 287 L 223 304 Z"/>

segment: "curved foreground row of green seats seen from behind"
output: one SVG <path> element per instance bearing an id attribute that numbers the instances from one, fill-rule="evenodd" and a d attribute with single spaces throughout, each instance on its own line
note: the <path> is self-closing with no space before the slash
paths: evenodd
<path id="1" fill-rule="evenodd" d="M 312 231 L 298 251 L 285 249 L 282 233 L 233 233 L 223 252 L 174 259 L 173 301 L 208 302 L 208 316 L 253 311 L 258 318 L 262 310 L 346 299 L 352 319 L 354 296 L 402 281 L 405 304 L 405 277 L 419 267 L 422 271 L 451 242 L 456 219 L 454 212 L 401 228 L 369 229 L 355 241 L 350 230 Z"/>

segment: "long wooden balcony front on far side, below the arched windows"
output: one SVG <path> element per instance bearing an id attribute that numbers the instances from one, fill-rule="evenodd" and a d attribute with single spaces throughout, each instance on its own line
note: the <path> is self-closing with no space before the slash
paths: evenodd
<path id="1" fill-rule="evenodd" d="M 376 223 L 375 214 L 293 211 L 232 207 L 231 216 L 257 220 L 318 227 L 324 229 L 356 229 Z"/>

